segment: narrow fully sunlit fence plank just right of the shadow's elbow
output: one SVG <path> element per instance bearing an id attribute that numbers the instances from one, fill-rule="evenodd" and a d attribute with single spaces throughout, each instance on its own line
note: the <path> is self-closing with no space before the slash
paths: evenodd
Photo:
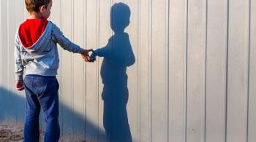
<path id="1" fill-rule="evenodd" d="M 151 127 L 150 127 L 150 82 L 149 82 L 149 53 L 150 47 L 149 43 L 149 1 L 140 2 L 140 35 L 139 35 L 139 50 L 138 50 L 138 59 L 140 60 L 140 141 L 148 142 L 151 139 Z"/>

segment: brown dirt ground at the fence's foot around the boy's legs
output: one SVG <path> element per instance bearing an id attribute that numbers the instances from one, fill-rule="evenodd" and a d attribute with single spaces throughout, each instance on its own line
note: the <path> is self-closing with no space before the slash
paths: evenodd
<path id="1" fill-rule="evenodd" d="M 43 142 L 43 133 L 40 142 Z M 0 142 L 23 142 L 23 127 L 21 124 L 13 125 L 10 122 L 0 122 Z M 59 142 L 86 142 L 79 139 L 61 137 Z"/>

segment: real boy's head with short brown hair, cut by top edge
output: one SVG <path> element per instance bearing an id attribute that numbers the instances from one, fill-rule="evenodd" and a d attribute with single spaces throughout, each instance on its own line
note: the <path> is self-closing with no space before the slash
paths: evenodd
<path id="1" fill-rule="evenodd" d="M 25 4 L 30 15 L 36 13 L 43 19 L 50 16 L 52 0 L 25 0 Z"/>

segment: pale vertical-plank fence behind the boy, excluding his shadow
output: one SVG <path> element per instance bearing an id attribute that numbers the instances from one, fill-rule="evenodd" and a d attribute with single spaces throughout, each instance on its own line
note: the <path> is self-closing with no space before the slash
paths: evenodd
<path id="1" fill-rule="evenodd" d="M 53 0 L 50 20 L 84 48 L 113 35 L 120 0 Z M 127 68 L 133 141 L 256 141 L 256 0 L 123 0 L 135 54 Z M 23 121 L 14 90 L 14 36 L 23 0 L 0 3 L 0 120 Z M 102 58 L 84 63 L 59 48 L 61 133 L 104 139 Z M 41 121 L 43 119 L 41 117 Z"/>

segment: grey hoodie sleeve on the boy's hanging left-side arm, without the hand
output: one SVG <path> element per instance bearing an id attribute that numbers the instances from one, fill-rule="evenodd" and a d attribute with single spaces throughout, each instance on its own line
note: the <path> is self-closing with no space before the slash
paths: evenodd
<path id="1" fill-rule="evenodd" d="M 20 55 L 20 42 L 18 39 L 18 32 L 15 36 L 15 49 L 14 49 L 14 57 L 15 57 L 15 80 L 23 80 L 23 64 Z"/>

